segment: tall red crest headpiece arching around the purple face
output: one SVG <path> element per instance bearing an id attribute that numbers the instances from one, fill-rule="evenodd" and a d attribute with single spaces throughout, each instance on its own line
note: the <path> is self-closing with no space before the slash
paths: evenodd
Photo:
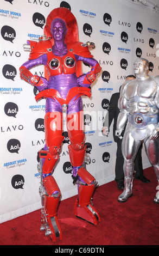
<path id="1" fill-rule="evenodd" d="M 79 41 L 78 36 L 78 25 L 77 20 L 71 11 L 65 7 L 59 7 L 50 12 L 46 20 L 46 26 L 44 27 L 44 34 L 52 38 L 52 33 L 50 32 L 50 27 L 52 21 L 55 18 L 60 18 L 66 23 L 67 34 L 65 36 L 65 43 Z M 54 44 L 54 39 L 52 39 L 52 44 Z"/>

